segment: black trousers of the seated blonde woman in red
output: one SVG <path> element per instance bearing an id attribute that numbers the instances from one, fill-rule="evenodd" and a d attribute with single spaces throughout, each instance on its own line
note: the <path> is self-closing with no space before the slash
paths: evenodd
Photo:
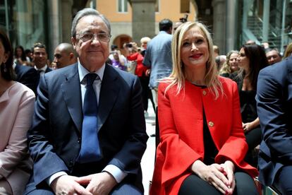
<path id="1" fill-rule="evenodd" d="M 245 172 L 236 172 L 236 188 L 233 194 L 258 194 L 257 188 L 255 187 L 255 182 L 250 175 Z M 197 175 L 190 175 L 187 177 L 183 184 L 181 184 L 181 189 L 178 191 L 179 195 L 193 195 L 193 194 L 217 194 L 221 195 L 221 192 L 218 191 L 215 187 L 210 185 L 205 180 L 201 179 Z"/>

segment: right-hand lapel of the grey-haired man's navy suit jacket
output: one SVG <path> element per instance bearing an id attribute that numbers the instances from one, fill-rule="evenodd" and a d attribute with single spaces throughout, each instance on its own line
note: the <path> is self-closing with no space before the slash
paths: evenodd
<path id="1" fill-rule="evenodd" d="M 99 95 L 98 130 L 102 128 L 118 97 L 119 84 L 117 81 L 118 73 L 114 71 L 114 68 L 106 65 Z"/>

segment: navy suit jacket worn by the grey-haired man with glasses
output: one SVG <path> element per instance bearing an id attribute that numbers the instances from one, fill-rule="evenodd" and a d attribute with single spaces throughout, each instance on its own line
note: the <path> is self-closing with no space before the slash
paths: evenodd
<path id="1" fill-rule="evenodd" d="M 83 122 L 78 64 L 41 77 L 32 128 L 28 132 L 34 160 L 29 186 L 41 187 L 59 171 L 75 175 Z M 142 189 L 140 160 L 147 134 L 138 77 L 106 65 L 99 95 L 98 134 L 103 158 L 83 167 L 80 175 L 116 165 L 129 182 Z M 28 190 L 27 190 L 28 191 Z"/>

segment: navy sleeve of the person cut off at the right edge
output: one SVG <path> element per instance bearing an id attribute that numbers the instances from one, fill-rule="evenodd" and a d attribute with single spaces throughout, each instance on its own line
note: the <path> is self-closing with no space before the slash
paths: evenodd
<path id="1" fill-rule="evenodd" d="M 289 129 L 291 115 L 288 114 L 291 111 L 288 110 L 289 105 L 286 100 L 287 66 L 284 62 L 279 65 L 281 66 L 267 67 L 260 71 L 257 81 L 257 114 L 260 117 L 263 141 L 268 146 L 273 159 L 281 163 L 291 163 L 292 136 Z"/>

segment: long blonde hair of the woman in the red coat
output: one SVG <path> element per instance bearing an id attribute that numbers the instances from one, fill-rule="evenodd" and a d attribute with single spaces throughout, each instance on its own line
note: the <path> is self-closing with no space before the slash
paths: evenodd
<path id="1" fill-rule="evenodd" d="M 172 64 L 173 70 L 169 77 L 164 78 L 163 83 L 170 83 L 167 86 L 166 91 L 172 86 L 176 85 L 176 93 L 178 94 L 185 87 L 185 66 L 183 61 L 181 61 L 181 47 L 183 42 L 183 36 L 185 32 L 188 32 L 190 28 L 199 28 L 202 31 L 208 44 L 209 59 L 206 62 L 206 75 L 205 83 L 208 88 L 214 93 L 215 98 L 219 97 L 219 91 L 223 93 L 223 88 L 221 82 L 219 81 L 217 65 L 214 59 L 213 43 L 212 37 L 209 34 L 207 27 L 199 22 L 186 22 L 180 25 L 176 32 L 174 32 L 174 37 L 171 42 L 171 54 L 172 54 Z"/>

